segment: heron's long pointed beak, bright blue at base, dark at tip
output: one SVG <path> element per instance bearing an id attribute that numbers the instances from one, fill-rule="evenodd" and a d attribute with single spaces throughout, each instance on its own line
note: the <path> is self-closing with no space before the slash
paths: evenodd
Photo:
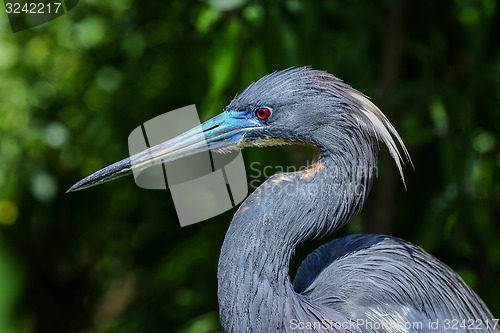
<path id="1" fill-rule="evenodd" d="M 260 123 L 249 117 L 246 112 L 225 111 L 171 140 L 93 173 L 71 186 L 66 193 L 83 190 L 203 151 L 241 148 L 244 134 L 260 126 Z"/>

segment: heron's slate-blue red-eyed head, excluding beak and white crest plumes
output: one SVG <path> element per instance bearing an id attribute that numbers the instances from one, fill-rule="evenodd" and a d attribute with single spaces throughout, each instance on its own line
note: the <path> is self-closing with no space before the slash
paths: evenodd
<path id="1" fill-rule="evenodd" d="M 357 93 L 331 74 L 308 67 L 274 72 L 252 83 L 225 108 L 246 128 L 235 147 L 332 140 L 359 108 Z M 360 93 L 357 93 L 362 96 Z M 245 120 L 241 120 L 245 119 Z"/>

